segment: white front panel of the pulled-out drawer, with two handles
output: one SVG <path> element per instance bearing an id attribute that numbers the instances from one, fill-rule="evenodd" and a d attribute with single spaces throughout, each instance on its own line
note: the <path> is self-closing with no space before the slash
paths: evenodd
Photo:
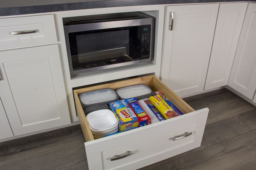
<path id="1" fill-rule="evenodd" d="M 89 169 L 137 169 L 199 147 L 208 112 L 208 108 L 204 108 L 114 136 L 85 142 Z M 185 132 L 192 134 L 172 140 L 175 135 Z M 134 151 L 134 154 L 111 161 L 111 157 L 122 155 L 126 151 Z"/>

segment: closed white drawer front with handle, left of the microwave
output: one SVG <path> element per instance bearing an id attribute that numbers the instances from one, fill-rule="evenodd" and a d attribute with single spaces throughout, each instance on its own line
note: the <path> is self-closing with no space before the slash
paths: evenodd
<path id="1" fill-rule="evenodd" d="M 0 19 L 0 49 L 57 42 L 54 16 Z"/>

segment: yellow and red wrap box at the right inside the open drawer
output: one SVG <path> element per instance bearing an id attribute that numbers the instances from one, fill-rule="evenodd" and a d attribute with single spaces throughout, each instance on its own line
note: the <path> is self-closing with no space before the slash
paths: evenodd
<path id="1" fill-rule="evenodd" d="M 166 119 L 179 116 L 158 94 L 149 99 Z"/>

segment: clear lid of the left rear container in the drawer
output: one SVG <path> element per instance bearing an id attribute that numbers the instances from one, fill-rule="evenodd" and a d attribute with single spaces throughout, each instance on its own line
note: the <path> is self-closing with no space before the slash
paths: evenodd
<path id="1" fill-rule="evenodd" d="M 95 91 L 87 91 L 79 94 L 81 104 L 89 107 L 95 104 L 103 104 L 113 102 L 118 99 L 116 92 L 111 88 L 104 88 Z"/>

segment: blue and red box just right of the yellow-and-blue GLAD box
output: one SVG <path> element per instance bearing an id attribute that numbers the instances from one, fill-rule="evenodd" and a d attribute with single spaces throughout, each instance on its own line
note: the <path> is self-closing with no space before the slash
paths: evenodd
<path id="1" fill-rule="evenodd" d="M 150 116 L 148 116 L 138 101 L 130 103 L 129 106 L 138 117 L 139 127 L 151 124 Z"/>

